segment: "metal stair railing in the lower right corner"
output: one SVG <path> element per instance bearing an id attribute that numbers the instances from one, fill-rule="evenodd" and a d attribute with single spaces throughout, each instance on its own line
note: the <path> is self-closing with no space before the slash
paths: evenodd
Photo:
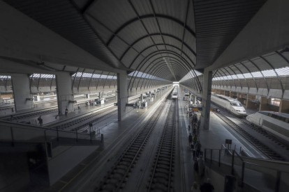
<path id="1" fill-rule="evenodd" d="M 266 159 L 241 157 L 235 150 L 205 149 L 205 162 L 214 163 L 235 175 L 239 186 L 244 184 L 259 191 L 288 191 L 289 163 Z"/>

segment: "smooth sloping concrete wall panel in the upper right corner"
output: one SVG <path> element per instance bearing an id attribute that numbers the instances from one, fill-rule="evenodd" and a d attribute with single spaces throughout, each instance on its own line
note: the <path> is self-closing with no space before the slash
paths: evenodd
<path id="1" fill-rule="evenodd" d="M 268 0 L 208 70 L 233 65 L 289 45 L 289 1 Z"/>

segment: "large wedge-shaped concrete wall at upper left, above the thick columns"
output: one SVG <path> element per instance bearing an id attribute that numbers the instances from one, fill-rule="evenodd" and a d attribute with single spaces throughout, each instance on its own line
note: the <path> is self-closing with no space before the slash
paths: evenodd
<path id="1" fill-rule="evenodd" d="M 92 70 L 125 73 L 107 65 L 31 17 L 0 1 L 0 56 L 17 58 L 33 67 L 36 62 L 70 65 Z M 10 62 L 11 63 L 11 62 Z M 1 72 L 24 72 L 27 67 L 4 65 Z M 47 69 L 46 69 L 47 70 Z M 30 72 L 33 72 L 30 70 Z"/>

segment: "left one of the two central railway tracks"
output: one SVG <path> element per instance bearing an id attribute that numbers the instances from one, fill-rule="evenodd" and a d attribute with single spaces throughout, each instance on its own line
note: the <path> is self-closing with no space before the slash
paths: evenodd
<path id="1" fill-rule="evenodd" d="M 166 102 L 167 100 L 165 100 Z M 126 181 L 131 175 L 132 168 L 138 162 L 138 158 L 146 145 L 151 132 L 154 130 L 158 118 L 164 109 L 165 102 L 163 102 L 157 109 L 156 113 L 151 115 L 149 120 L 145 123 L 138 134 L 133 138 L 133 141 L 126 147 L 126 150 L 121 154 L 117 162 L 114 163 L 112 169 L 108 172 L 94 191 L 121 191 L 126 184 Z"/>

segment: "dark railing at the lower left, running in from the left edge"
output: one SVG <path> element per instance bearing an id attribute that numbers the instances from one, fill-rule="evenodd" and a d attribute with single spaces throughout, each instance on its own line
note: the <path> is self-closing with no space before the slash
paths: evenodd
<path id="1" fill-rule="evenodd" d="M 71 138 L 75 142 L 80 140 L 100 141 L 94 131 L 89 134 L 81 134 L 76 131 L 60 131 L 34 125 L 22 125 L 15 122 L 0 121 L 0 142 L 10 142 L 13 146 L 16 142 L 45 143 L 46 141 L 59 141 L 59 138 Z M 99 135 L 100 136 L 100 135 Z M 101 137 L 103 138 L 103 137 Z"/>

